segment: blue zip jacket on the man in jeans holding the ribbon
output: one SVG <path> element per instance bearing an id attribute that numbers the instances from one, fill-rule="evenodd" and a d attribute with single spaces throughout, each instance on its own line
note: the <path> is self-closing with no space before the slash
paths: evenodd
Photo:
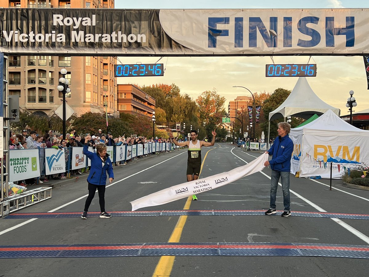
<path id="1" fill-rule="evenodd" d="M 272 155 L 272 160 L 269 161 L 270 168 L 281 172 L 290 172 L 291 156 L 293 152 L 293 141 L 290 136 L 276 137 L 272 147 L 268 150 L 269 155 Z"/>

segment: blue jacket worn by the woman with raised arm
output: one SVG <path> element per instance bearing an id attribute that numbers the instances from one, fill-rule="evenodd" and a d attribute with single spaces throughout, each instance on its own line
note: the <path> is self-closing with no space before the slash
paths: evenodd
<path id="1" fill-rule="evenodd" d="M 103 161 L 101 160 L 99 154 L 90 152 L 88 145 L 83 146 L 83 154 L 85 154 L 91 160 L 91 169 L 89 177 L 87 178 L 87 182 L 94 185 L 106 185 L 106 171 L 109 174 L 109 178 L 114 179 L 113 165 L 111 164 L 108 154 L 106 154 L 107 159 L 104 167 Z"/>

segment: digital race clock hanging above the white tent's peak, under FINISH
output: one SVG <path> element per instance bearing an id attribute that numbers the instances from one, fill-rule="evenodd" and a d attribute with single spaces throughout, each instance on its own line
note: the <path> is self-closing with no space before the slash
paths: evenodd
<path id="1" fill-rule="evenodd" d="M 265 77 L 315 77 L 316 64 L 267 64 Z"/>

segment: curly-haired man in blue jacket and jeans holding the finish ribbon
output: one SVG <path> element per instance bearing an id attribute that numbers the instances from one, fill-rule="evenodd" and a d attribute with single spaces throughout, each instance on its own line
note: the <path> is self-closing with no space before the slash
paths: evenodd
<path id="1" fill-rule="evenodd" d="M 290 211 L 290 170 L 291 155 L 293 152 L 293 142 L 289 137 L 291 125 L 287 122 L 278 123 L 278 137 L 274 140 L 272 147 L 265 153 L 272 155 L 272 160 L 266 161 L 265 166 L 272 168 L 272 177 L 270 179 L 270 209 L 265 212 L 266 215 L 276 213 L 276 196 L 278 181 L 281 178 L 283 191 L 284 212 L 282 216 L 287 217 Z"/>

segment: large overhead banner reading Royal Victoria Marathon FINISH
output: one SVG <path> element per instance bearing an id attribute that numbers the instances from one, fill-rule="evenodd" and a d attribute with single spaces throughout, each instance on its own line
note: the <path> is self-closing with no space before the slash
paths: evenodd
<path id="1" fill-rule="evenodd" d="M 369 9 L 3 8 L 0 51 L 69 55 L 363 55 Z"/>

